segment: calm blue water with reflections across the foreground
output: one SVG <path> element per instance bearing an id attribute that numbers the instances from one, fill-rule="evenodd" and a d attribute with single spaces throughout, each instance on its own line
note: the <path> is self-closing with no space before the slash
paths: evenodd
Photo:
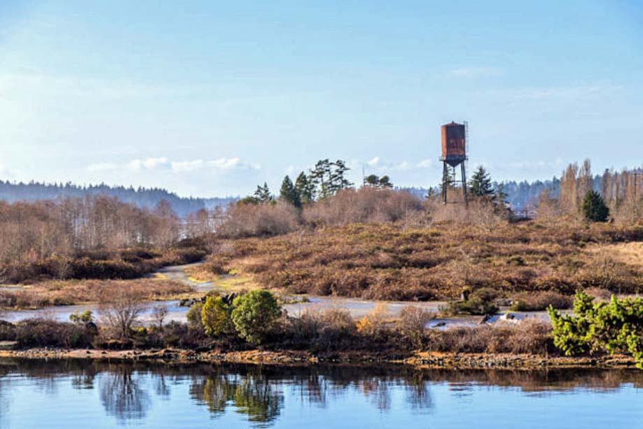
<path id="1" fill-rule="evenodd" d="M 643 372 L 0 361 L 1 428 L 640 428 Z"/>

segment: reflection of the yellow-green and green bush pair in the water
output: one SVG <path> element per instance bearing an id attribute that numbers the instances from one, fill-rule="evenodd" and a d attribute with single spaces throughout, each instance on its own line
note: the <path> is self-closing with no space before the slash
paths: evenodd
<path id="1" fill-rule="evenodd" d="M 245 375 L 217 373 L 194 379 L 190 395 L 215 416 L 233 405 L 236 412 L 246 414 L 249 421 L 256 423 L 274 421 L 284 402 L 277 383 L 270 382 L 261 371 Z"/>

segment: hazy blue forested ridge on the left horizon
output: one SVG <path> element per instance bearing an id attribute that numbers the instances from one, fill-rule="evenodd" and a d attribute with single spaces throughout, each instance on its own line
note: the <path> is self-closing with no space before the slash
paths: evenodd
<path id="1" fill-rule="evenodd" d="M 227 205 L 237 197 L 224 198 L 192 198 L 181 197 L 173 192 L 161 188 L 123 187 L 97 184 L 78 186 L 65 183 L 39 183 L 39 182 L 9 182 L 0 180 L 0 200 L 8 203 L 18 201 L 58 200 L 68 197 L 82 198 L 85 196 L 112 196 L 123 203 L 135 204 L 140 208 L 154 208 L 161 200 L 170 203 L 180 217 L 186 217 L 201 209 L 212 209 L 217 206 Z"/>

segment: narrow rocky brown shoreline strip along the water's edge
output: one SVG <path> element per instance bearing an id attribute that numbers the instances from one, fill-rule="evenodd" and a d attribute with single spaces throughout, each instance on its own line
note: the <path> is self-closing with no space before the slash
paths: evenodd
<path id="1" fill-rule="evenodd" d="M 465 354 L 410 352 L 405 356 L 393 353 L 342 351 L 312 354 L 309 351 L 193 351 L 187 349 L 98 350 L 32 348 L 1 350 L 0 358 L 50 361 L 79 359 L 89 361 L 186 363 L 243 363 L 254 365 L 363 365 L 393 364 L 413 368 L 451 370 L 543 370 L 548 368 L 635 368 L 631 356 L 537 356 L 521 354 Z"/>

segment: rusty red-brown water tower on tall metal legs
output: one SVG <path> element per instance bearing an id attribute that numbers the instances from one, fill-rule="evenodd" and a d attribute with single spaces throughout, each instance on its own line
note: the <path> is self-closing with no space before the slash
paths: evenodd
<path id="1" fill-rule="evenodd" d="M 451 183 L 462 183 L 462 196 L 465 205 L 468 204 L 467 198 L 467 171 L 465 161 L 467 160 L 467 140 L 468 140 L 468 123 L 442 125 L 442 202 L 447 203 L 447 190 L 449 188 L 449 168 L 454 168 L 454 177 Z M 455 180 L 455 169 L 460 166 L 461 180 Z"/>

